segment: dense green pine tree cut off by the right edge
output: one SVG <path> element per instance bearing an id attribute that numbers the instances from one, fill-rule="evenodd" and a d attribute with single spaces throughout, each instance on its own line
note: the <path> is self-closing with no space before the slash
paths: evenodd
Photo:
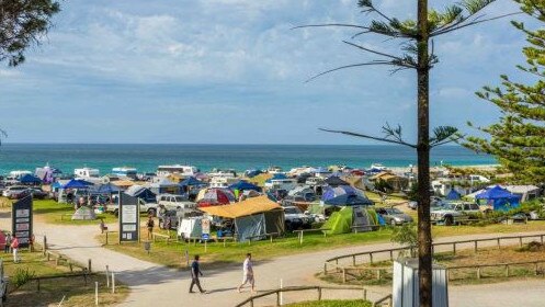
<path id="1" fill-rule="evenodd" d="M 545 22 L 545 1 L 515 1 L 524 13 Z M 527 30 L 521 22 L 512 24 L 529 43 L 522 50 L 526 65 L 518 68 L 537 80 L 526 86 L 501 76 L 501 87 L 484 87 L 477 92 L 496 104 L 502 115 L 498 123 L 478 127 L 489 138 L 468 137 L 464 145 L 493 155 L 501 169 L 512 174 L 507 178 L 512 183 L 545 183 L 545 30 Z"/>

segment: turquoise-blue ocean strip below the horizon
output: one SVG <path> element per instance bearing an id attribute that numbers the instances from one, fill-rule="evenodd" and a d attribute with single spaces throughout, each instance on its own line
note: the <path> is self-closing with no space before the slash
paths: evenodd
<path id="1" fill-rule="evenodd" d="M 136 145 L 136 144 L 2 144 L 0 173 L 31 170 L 46 163 L 72 173 L 75 168 L 99 169 L 101 174 L 114 167 L 134 167 L 138 172 L 155 172 L 159 164 L 191 164 L 202 171 L 213 168 L 289 170 L 299 166 L 345 164 L 368 168 L 379 162 L 387 167 L 416 164 L 416 151 L 401 146 L 382 145 Z M 496 160 L 459 146 L 432 150 L 431 164 L 493 164 Z"/>

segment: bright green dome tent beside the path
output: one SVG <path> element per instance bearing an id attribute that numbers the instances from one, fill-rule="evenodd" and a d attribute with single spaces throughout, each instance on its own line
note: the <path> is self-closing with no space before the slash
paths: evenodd
<path id="1" fill-rule="evenodd" d="M 374 226 L 378 225 L 378 217 L 375 211 L 366 209 L 364 206 L 343 207 L 333 213 L 323 224 L 322 228 L 328 235 L 339 235 L 351 232 L 352 229 L 357 231 L 371 231 Z M 354 227 L 354 228 L 353 228 Z"/>

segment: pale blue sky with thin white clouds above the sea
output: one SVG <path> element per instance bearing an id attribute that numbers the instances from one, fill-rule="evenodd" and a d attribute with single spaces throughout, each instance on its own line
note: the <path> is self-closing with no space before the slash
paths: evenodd
<path id="1" fill-rule="evenodd" d="M 385 67 L 325 70 L 376 59 L 351 41 L 398 53 L 400 42 L 352 38 L 367 24 L 356 0 L 70 0 L 38 47 L 0 67 L 0 127 L 8 143 L 368 144 L 319 127 L 381 135 L 385 123 L 416 135 L 416 72 Z M 375 0 L 399 19 L 416 1 Z M 449 1 L 430 0 L 441 9 Z M 452 3 L 452 2 L 451 2 Z M 498 0 L 487 16 L 515 12 Z M 525 37 L 510 20 L 440 37 L 431 72 L 432 126 L 474 134 L 500 113 L 476 98 L 499 75 L 525 80 Z"/>

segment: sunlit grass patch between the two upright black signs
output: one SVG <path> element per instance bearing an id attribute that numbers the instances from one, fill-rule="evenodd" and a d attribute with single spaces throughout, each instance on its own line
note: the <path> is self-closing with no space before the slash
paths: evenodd
<path id="1" fill-rule="evenodd" d="M 103 218 L 105 224 L 116 223 L 113 214 L 98 214 L 94 220 L 71 220 L 75 209 L 72 205 L 59 204 L 53 200 L 35 200 L 34 214 L 36 218 L 43 218 L 48 224 L 58 225 L 98 225 Z"/>

